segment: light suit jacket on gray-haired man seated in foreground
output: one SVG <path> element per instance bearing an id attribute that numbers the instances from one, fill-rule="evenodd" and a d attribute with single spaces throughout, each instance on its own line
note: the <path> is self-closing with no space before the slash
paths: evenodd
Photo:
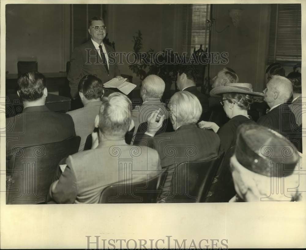
<path id="1" fill-rule="evenodd" d="M 52 190 L 57 203 L 99 203 L 109 185 L 144 181 L 157 175 L 159 156 L 148 147 L 106 140 L 96 149 L 80 151 L 66 159 L 66 168 Z"/>

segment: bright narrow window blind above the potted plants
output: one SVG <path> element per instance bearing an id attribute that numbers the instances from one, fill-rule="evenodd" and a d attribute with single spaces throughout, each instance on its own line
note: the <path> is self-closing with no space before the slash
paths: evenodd
<path id="1" fill-rule="evenodd" d="M 210 4 L 184 4 L 182 52 L 190 57 L 194 48 L 198 50 L 202 44 L 205 50 L 209 43 Z"/>

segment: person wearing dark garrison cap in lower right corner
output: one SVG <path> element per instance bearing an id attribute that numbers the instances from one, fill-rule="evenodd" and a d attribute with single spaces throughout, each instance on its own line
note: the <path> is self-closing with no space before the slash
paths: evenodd
<path id="1" fill-rule="evenodd" d="M 294 174 L 302 158 L 289 140 L 271 129 L 241 125 L 230 166 L 237 192 L 230 201 L 302 200 L 299 175 Z"/>

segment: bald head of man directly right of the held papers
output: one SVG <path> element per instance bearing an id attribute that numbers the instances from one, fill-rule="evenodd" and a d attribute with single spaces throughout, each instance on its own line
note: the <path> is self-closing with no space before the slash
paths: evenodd
<path id="1" fill-rule="evenodd" d="M 156 75 L 149 75 L 142 81 L 142 86 L 140 89 L 141 98 L 162 98 L 165 91 L 165 82 Z"/>

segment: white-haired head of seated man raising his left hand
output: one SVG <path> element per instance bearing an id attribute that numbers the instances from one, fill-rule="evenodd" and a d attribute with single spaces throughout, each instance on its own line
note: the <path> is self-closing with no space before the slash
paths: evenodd
<path id="1" fill-rule="evenodd" d="M 202 114 L 199 99 L 188 91 L 176 92 L 171 97 L 168 107 L 176 116 L 177 126 L 196 124 Z"/>

